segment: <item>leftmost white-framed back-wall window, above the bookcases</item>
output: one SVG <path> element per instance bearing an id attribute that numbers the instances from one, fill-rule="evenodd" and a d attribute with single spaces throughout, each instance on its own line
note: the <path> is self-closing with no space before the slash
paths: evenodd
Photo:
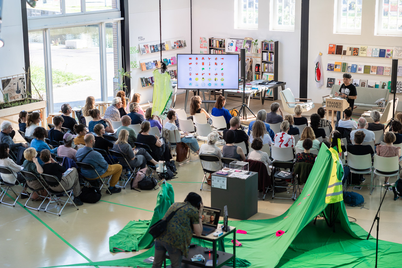
<path id="1" fill-rule="evenodd" d="M 235 0 L 236 29 L 258 29 L 258 0 Z"/>

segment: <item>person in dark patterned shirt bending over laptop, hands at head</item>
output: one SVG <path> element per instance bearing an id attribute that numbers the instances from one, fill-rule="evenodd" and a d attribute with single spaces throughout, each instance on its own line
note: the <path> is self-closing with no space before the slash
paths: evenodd
<path id="1" fill-rule="evenodd" d="M 203 231 L 202 198 L 195 192 L 187 194 L 184 202 L 173 203 L 163 219 L 167 219 L 170 213 L 174 216 L 168 221 L 165 231 L 155 239 L 155 257 L 152 268 L 161 268 L 166 257 L 166 251 L 172 268 L 181 267 L 183 255 L 189 255 L 189 245 L 193 233 L 200 236 Z"/>

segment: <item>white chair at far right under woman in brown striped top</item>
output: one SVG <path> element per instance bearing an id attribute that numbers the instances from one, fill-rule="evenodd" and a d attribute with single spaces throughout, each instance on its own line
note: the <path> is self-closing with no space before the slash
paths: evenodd
<path id="1" fill-rule="evenodd" d="M 384 174 L 384 172 L 390 174 Z M 377 182 L 374 184 L 374 175 L 377 175 Z M 374 188 L 378 183 L 378 176 L 399 178 L 399 157 L 382 157 L 374 155 L 373 172 L 371 173 L 370 194 L 373 193 Z"/>

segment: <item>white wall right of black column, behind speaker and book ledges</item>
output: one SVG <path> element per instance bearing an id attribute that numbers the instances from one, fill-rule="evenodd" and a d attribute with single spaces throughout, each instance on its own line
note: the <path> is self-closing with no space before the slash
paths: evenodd
<path id="1" fill-rule="evenodd" d="M 335 0 L 336 1 L 336 0 Z M 355 57 L 355 56 L 343 56 L 340 55 L 327 55 L 328 44 L 340 44 L 340 45 L 368 45 L 375 47 L 394 47 L 401 46 L 402 37 L 394 36 L 380 36 L 374 35 L 374 23 L 375 23 L 375 0 L 363 1 L 362 12 L 362 27 L 360 35 L 351 34 L 339 34 L 333 33 L 334 23 L 334 0 L 310 0 L 310 16 L 309 16 L 309 51 L 308 51 L 308 98 L 312 98 L 314 102 L 321 103 L 322 96 L 326 96 L 330 92 L 330 88 L 326 88 L 326 80 L 328 77 L 342 78 L 342 72 L 331 72 L 326 70 L 327 63 L 329 61 L 337 60 L 343 62 L 359 62 L 360 64 L 366 63 L 366 65 L 379 66 L 392 64 L 390 58 L 378 58 L 378 57 Z M 343 48 L 345 49 L 345 47 Z M 314 60 L 318 53 L 322 52 L 322 65 L 324 70 L 324 86 L 317 88 L 314 80 L 315 65 Z M 372 64 L 370 64 L 372 63 Z M 402 64 L 402 60 L 399 60 L 399 65 Z M 365 79 L 365 80 L 381 80 L 390 81 L 390 76 L 380 76 L 371 74 L 357 74 L 351 73 L 352 79 Z M 398 81 L 402 80 L 398 77 Z M 400 95 L 400 96 L 398 96 Z M 390 94 L 392 99 L 393 94 Z M 397 94 L 397 97 L 401 98 L 402 94 Z M 402 101 L 398 103 L 397 110 L 402 110 Z"/>

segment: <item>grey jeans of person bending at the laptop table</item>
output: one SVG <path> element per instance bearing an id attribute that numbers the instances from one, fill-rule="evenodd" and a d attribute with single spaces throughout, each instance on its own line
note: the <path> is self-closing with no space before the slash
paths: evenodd
<path id="1" fill-rule="evenodd" d="M 152 268 L 161 268 L 163 261 L 166 258 L 166 251 L 169 254 L 170 263 L 172 268 L 181 267 L 181 260 L 183 259 L 183 253 L 177 248 L 173 248 L 164 242 L 155 240 L 155 258 Z"/>

